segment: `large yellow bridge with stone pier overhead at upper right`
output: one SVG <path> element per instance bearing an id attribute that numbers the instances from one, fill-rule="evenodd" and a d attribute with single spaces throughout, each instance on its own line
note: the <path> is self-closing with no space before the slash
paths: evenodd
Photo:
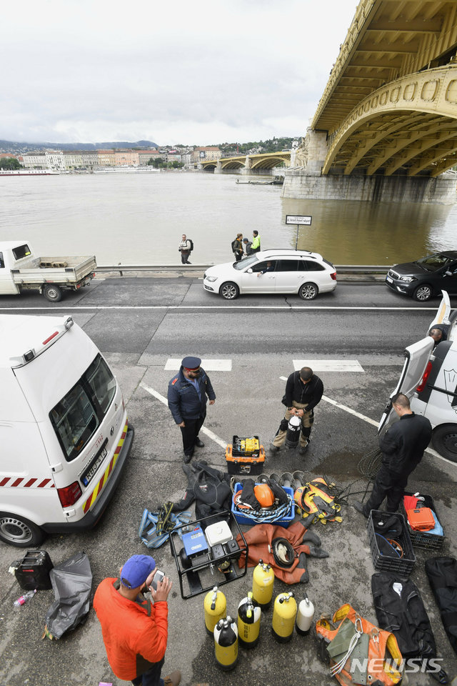
<path id="1" fill-rule="evenodd" d="M 456 151 L 457 2 L 361 0 L 283 195 L 454 202 Z"/>

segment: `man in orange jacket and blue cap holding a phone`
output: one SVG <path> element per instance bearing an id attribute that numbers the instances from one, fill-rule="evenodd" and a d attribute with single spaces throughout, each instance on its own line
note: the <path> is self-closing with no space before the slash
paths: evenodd
<path id="1" fill-rule="evenodd" d="M 171 581 L 164 577 L 152 587 L 156 563 L 149 555 L 133 555 L 119 579 L 104 579 L 94 596 L 94 610 L 109 664 L 116 677 L 134 686 L 178 686 L 181 672 L 161 679 L 168 637 L 167 598 Z M 146 600 L 149 590 L 154 600 Z"/>

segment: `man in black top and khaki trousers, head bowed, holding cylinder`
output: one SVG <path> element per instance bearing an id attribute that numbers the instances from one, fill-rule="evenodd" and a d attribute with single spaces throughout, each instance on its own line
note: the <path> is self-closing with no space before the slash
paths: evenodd
<path id="1" fill-rule="evenodd" d="M 311 367 L 302 367 L 299 372 L 293 372 L 287 379 L 286 394 L 283 403 L 286 405 L 286 414 L 279 424 L 279 429 L 271 443 L 271 454 L 278 452 L 286 440 L 288 420 L 293 414 L 301 418 L 300 449 L 305 454 L 314 421 L 314 407 L 321 402 L 323 383 Z"/>

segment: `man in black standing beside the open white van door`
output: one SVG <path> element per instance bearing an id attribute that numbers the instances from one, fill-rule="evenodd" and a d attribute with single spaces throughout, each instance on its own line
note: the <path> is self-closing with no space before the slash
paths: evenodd
<path id="1" fill-rule="evenodd" d="M 396 512 L 405 492 L 408 477 L 421 462 L 423 451 L 431 439 L 431 423 L 421 414 L 414 414 L 403 393 L 392 398 L 399 422 L 389 427 L 379 439 L 382 452 L 381 469 L 373 484 L 371 496 L 365 504 L 356 500 L 357 512 L 368 517 L 371 509 L 379 509 L 387 497 L 386 511 Z"/>

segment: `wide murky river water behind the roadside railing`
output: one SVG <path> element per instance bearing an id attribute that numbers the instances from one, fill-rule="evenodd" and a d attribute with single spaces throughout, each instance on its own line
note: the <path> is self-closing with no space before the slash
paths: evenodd
<path id="1" fill-rule="evenodd" d="M 394 264 L 457 249 L 457 205 L 281 199 L 281 187 L 232 174 L 62 174 L 0 177 L 0 240 L 26 239 L 36 254 L 95 254 L 99 264 L 179 264 L 181 234 L 194 264 L 232 259 L 237 232 L 295 247 L 286 214 L 311 215 L 298 248 L 334 264 Z"/>

